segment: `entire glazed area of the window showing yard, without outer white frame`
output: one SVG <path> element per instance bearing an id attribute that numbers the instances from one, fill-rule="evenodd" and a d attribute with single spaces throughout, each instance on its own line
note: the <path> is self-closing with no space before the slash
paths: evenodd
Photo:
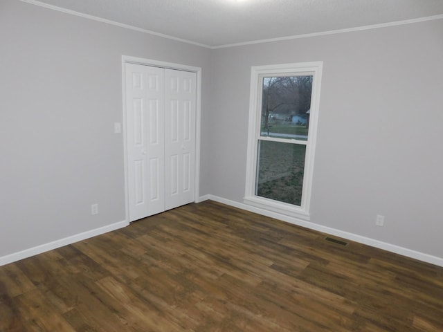
<path id="1" fill-rule="evenodd" d="M 301 205 L 312 78 L 262 77 L 257 196 Z"/>

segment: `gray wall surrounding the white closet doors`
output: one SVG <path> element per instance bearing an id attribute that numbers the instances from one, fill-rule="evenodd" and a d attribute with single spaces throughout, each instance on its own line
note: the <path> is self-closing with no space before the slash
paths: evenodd
<path id="1" fill-rule="evenodd" d="M 125 220 L 122 55 L 208 82 L 206 48 L 1 0 L 0 257 Z"/>

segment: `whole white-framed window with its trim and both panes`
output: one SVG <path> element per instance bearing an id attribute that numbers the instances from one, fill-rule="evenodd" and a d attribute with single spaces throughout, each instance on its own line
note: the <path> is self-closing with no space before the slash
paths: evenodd
<path id="1" fill-rule="evenodd" d="M 251 68 L 245 203 L 309 220 L 322 66 Z"/>

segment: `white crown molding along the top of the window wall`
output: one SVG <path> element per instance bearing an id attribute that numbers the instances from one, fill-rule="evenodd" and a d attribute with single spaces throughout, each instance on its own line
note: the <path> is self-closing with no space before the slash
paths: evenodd
<path id="1" fill-rule="evenodd" d="M 264 44 L 264 43 L 280 42 L 280 41 L 291 40 L 291 39 L 300 39 L 300 38 L 310 38 L 310 37 L 320 37 L 320 36 L 327 36 L 327 35 L 336 35 L 336 34 L 339 34 L 339 33 L 354 33 L 356 31 L 372 30 L 372 29 L 379 29 L 379 28 L 388 28 L 390 26 L 403 26 L 403 25 L 406 25 L 406 24 L 415 24 L 415 23 L 426 22 L 426 21 L 434 21 L 435 19 L 443 19 L 443 15 L 419 17 L 417 19 L 405 19 L 403 21 L 394 21 L 394 22 L 388 22 L 388 23 L 382 23 L 382 24 L 372 24 L 370 26 L 356 26 L 355 28 L 321 31 L 320 33 L 306 33 L 305 35 L 292 35 L 292 36 L 287 36 L 287 37 L 258 39 L 258 40 L 253 40 L 251 42 L 241 42 L 241 43 L 235 43 L 235 44 L 226 44 L 226 45 L 209 46 L 209 47 L 211 49 L 213 49 L 213 50 L 217 50 L 218 48 L 230 48 L 230 47 L 236 47 L 236 46 L 247 46 L 247 45 L 253 45 L 253 44 Z"/>

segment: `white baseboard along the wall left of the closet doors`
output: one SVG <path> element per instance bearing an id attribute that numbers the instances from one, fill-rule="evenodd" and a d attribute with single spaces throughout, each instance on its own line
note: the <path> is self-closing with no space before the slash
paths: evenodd
<path id="1" fill-rule="evenodd" d="M 64 239 L 55 240 L 49 243 L 44 243 L 40 246 L 33 248 L 28 248 L 21 250 L 19 252 L 14 252 L 13 254 L 0 257 L 0 266 L 10 264 L 14 261 L 19 261 L 20 259 L 25 259 L 34 255 L 41 254 L 49 250 L 57 249 L 63 246 L 67 246 L 71 243 L 89 239 L 91 237 L 96 237 L 100 234 L 105 234 L 107 232 L 112 232 L 113 230 L 118 230 L 119 228 L 124 228 L 129 223 L 127 221 L 120 221 L 118 223 L 112 223 L 111 225 L 106 225 L 94 230 L 88 230 L 87 232 L 82 232 L 80 234 L 72 235 L 71 237 L 65 237 Z"/>

